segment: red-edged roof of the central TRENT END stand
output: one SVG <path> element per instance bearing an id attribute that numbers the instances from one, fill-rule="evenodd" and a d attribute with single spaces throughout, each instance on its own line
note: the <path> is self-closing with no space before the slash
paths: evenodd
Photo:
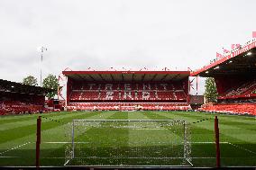
<path id="1" fill-rule="evenodd" d="M 189 71 L 63 71 L 75 80 L 102 82 L 158 82 L 178 81 L 190 75 Z"/>

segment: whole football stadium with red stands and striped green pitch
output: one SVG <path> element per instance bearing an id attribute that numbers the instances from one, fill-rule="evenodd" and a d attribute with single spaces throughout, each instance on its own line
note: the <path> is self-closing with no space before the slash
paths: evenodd
<path id="1" fill-rule="evenodd" d="M 0 166 L 255 167 L 255 47 L 195 71 L 64 70 L 54 110 L 51 89 L 1 80 Z M 217 103 L 191 76 L 215 78 Z"/>

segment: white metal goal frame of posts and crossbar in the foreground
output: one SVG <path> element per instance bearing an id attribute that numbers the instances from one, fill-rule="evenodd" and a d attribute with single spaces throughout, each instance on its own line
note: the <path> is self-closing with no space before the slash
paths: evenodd
<path id="1" fill-rule="evenodd" d="M 107 121 L 123 121 L 123 122 L 134 122 L 134 121 L 137 121 L 137 122 L 143 122 L 143 121 L 146 121 L 146 122 L 150 122 L 150 121 L 152 121 L 152 122 L 154 122 L 154 121 L 156 121 L 156 122 L 158 122 L 158 121 L 165 121 L 165 122 L 180 122 L 180 123 L 182 123 L 183 124 L 183 126 L 184 126 L 184 128 L 183 128 L 183 130 L 184 130 L 184 139 L 183 139 L 183 150 L 184 150 L 184 153 L 183 153 L 183 158 L 184 158 L 184 160 L 186 160 L 187 161 L 187 163 L 188 163 L 188 165 L 189 166 L 193 166 L 193 164 L 191 163 L 191 159 L 192 159 L 192 157 L 187 157 L 187 153 L 188 153 L 188 155 L 190 156 L 190 154 L 191 154 L 191 143 L 190 143 L 190 141 L 187 141 L 187 139 L 190 139 L 190 134 L 188 134 L 188 133 L 190 133 L 189 131 L 188 131 L 188 128 L 187 128 L 187 126 L 189 125 L 186 121 L 182 121 L 182 120 L 73 120 L 70 124 L 71 124 L 71 126 L 72 126 L 72 129 L 71 129 L 71 149 L 72 149 L 72 153 L 71 153 L 71 159 L 73 159 L 73 158 L 75 158 L 75 127 L 76 127 L 76 123 L 75 122 L 78 122 L 78 121 L 84 121 L 84 122 L 92 122 L 92 121 L 95 121 L 95 122 L 107 122 Z M 187 136 L 188 136 L 188 138 L 187 138 Z M 189 146 L 189 147 L 187 147 L 187 145 Z M 68 164 L 69 164 L 69 161 L 71 160 L 71 159 L 69 159 L 69 160 L 65 160 L 65 164 L 64 164 L 64 166 L 69 166 Z M 177 165 L 176 165 L 177 166 Z M 186 167 L 186 166 L 182 166 L 182 165 L 180 165 L 181 167 Z M 88 166 L 88 167 L 96 167 L 96 166 Z M 97 167 L 149 167 L 149 166 L 97 166 Z M 152 166 L 152 167 L 175 167 L 175 166 L 172 166 L 172 165 L 169 165 L 169 166 Z"/>

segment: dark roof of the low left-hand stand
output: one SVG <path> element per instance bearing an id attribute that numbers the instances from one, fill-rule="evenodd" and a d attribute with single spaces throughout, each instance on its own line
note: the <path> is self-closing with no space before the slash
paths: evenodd
<path id="1" fill-rule="evenodd" d="M 0 79 L 0 92 L 45 95 L 52 91 L 53 90 L 49 88 L 34 85 L 23 85 L 21 83 Z"/>

